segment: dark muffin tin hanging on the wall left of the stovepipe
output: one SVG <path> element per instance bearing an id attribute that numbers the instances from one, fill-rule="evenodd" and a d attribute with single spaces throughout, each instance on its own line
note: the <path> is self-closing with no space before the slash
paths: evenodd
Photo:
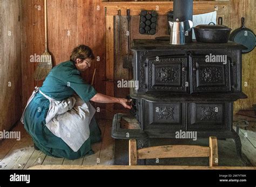
<path id="1" fill-rule="evenodd" d="M 143 10 L 140 12 L 139 33 L 154 35 L 157 31 L 157 12 Z"/>

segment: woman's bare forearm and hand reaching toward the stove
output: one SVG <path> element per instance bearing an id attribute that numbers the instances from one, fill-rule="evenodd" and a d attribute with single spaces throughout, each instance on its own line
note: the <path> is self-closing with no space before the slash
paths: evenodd
<path id="1" fill-rule="evenodd" d="M 91 98 L 91 101 L 95 103 L 119 103 L 119 104 L 122 104 L 126 109 L 132 108 L 129 105 L 132 100 L 110 97 L 110 96 L 103 95 L 102 93 L 97 93 L 94 97 Z"/>

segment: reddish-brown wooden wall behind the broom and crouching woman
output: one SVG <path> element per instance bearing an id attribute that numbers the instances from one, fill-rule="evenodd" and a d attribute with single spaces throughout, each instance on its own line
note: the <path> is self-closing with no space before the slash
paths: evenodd
<path id="1" fill-rule="evenodd" d="M 39 8 L 40 7 L 40 8 Z M 92 63 L 83 77 L 91 82 L 96 68 L 95 87 L 105 93 L 105 46 L 104 46 L 104 8 L 100 0 L 50 0 L 48 1 L 49 51 L 53 66 L 69 60 L 71 51 L 79 44 L 90 46 L 100 61 Z M 30 55 L 44 52 L 44 1 L 22 1 L 22 74 L 23 107 L 33 88 L 42 82 L 33 81 L 36 63 L 29 62 Z"/>

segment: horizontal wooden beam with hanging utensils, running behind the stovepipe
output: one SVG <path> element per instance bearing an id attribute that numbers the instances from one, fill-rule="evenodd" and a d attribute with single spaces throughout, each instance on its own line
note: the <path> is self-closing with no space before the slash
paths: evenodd
<path id="1" fill-rule="evenodd" d="M 167 15 L 173 10 L 173 2 L 103 2 L 107 16 L 117 16 L 118 10 L 121 15 L 126 15 L 126 10 L 131 10 L 131 16 L 138 16 L 141 10 L 155 10 L 159 15 Z M 194 2 L 193 13 L 207 13 L 217 10 L 219 15 L 225 15 L 228 11 L 229 2 L 200 1 Z"/>

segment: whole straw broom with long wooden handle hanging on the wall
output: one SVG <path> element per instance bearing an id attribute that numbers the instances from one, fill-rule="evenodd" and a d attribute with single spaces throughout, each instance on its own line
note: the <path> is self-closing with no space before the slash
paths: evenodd
<path id="1" fill-rule="evenodd" d="M 44 33 L 45 33 L 45 52 L 41 55 L 40 62 L 38 63 L 35 73 L 34 79 L 35 81 L 44 80 L 45 77 L 50 73 L 52 69 L 52 60 L 51 55 L 48 52 L 48 44 L 47 44 L 47 0 L 44 0 Z"/>

